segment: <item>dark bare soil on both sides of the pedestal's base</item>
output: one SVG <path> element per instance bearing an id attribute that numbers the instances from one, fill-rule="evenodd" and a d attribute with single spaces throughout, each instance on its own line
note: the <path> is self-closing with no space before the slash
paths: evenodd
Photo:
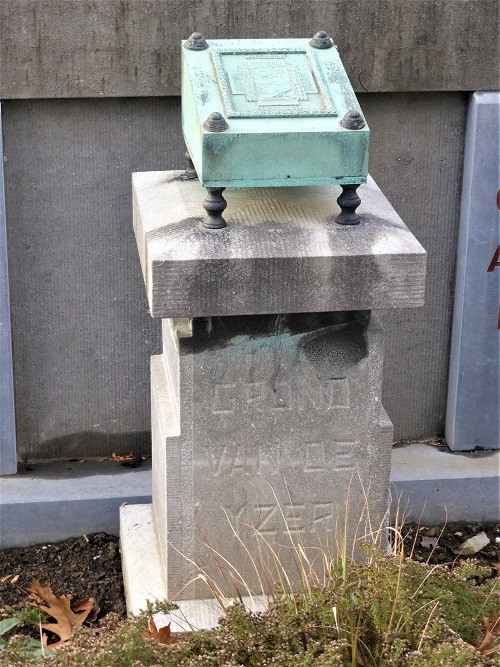
<path id="1" fill-rule="evenodd" d="M 500 538 L 500 523 L 408 525 L 403 533 L 406 552 L 412 558 L 454 567 L 465 558 L 456 555 L 454 550 L 467 538 L 482 531 L 487 534 L 490 543 L 474 558 L 481 565 L 491 568 L 492 575 L 495 575 L 500 566 L 500 544 L 496 541 Z M 429 540 L 422 538 L 433 539 L 429 545 Z M 98 618 L 110 612 L 121 617 L 126 614 L 117 537 L 97 533 L 59 544 L 0 552 L 0 618 L 9 616 L 12 608 L 23 607 L 32 579 L 50 583 L 56 595 L 66 595 L 73 600 L 95 598 L 100 607 Z"/>

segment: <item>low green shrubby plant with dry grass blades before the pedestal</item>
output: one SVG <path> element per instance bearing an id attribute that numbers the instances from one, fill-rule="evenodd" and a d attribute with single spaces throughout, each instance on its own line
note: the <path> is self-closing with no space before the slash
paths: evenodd
<path id="1" fill-rule="evenodd" d="M 480 643 L 482 617 L 498 608 L 486 574 L 474 564 L 450 573 L 372 553 L 347 577 L 334 571 L 327 587 L 281 595 L 265 613 L 232 608 L 213 631 L 169 651 L 165 665 L 491 665 L 468 646 Z"/>

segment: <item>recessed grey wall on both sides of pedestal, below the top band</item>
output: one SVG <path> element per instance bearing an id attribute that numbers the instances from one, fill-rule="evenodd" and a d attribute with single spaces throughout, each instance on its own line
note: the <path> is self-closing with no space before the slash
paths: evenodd
<path id="1" fill-rule="evenodd" d="M 444 433 L 465 100 L 360 96 L 370 171 L 428 251 L 425 307 L 382 314 L 383 401 L 397 438 Z M 3 107 L 19 455 L 146 450 L 149 357 L 161 343 L 132 231 L 130 175 L 184 167 L 180 101 Z"/>

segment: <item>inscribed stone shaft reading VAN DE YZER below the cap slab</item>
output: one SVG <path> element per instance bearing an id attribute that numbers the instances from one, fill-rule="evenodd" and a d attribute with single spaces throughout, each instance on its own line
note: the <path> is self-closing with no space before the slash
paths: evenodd
<path id="1" fill-rule="evenodd" d="M 333 557 L 346 503 L 349 552 L 367 530 L 366 498 L 373 529 L 383 523 L 392 425 L 382 331 L 368 320 L 200 318 L 180 340 L 164 323 L 164 354 L 152 358 L 153 514 L 170 598 L 206 596 L 199 582 L 183 588 L 192 561 L 217 576 L 227 558 L 259 588 L 233 528 L 257 560 L 259 534 L 264 563 L 272 569 L 269 541 L 293 570 L 292 541 Z"/>

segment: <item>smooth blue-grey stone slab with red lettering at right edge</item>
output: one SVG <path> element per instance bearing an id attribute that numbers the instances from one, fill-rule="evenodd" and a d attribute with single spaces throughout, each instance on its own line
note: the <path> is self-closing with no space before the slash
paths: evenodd
<path id="1" fill-rule="evenodd" d="M 446 441 L 500 449 L 500 92 L 472 96 L 461 209 Z"/>

